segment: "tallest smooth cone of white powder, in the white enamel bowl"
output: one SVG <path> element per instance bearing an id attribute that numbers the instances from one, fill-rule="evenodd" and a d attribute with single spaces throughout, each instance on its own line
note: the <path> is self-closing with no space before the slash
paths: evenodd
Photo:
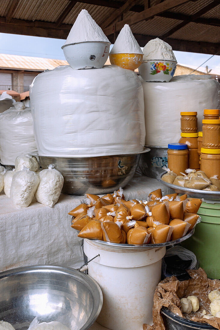
<path id="1" fill-rule="evenodd" d="M 102 41 L 110 43 L 100 26 L 96 24 L 88 11 L 83 9 L 77 16 L 63 46 L 85 41 Z"/>

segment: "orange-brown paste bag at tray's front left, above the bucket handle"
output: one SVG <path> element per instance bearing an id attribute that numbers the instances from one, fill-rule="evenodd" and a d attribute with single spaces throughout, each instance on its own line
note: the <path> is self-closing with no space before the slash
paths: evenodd
<path id="1" fill-rule="evenodd" d="M 83 227 L 83 229 L 78 234 L 78 237 L 103 241 L 101 223 L 102 222 L 99 220 L 92 219 L 87 225 L 85 225 L 85 227 Z"/>

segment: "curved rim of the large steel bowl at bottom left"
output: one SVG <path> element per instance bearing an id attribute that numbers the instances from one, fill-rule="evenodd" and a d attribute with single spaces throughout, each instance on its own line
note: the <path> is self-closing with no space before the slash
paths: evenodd
<path id="1" fill-rule="evenodd" d="M 94 286 L 97 289 L 97 292 L 95 292 L 95 295 L 97 295 L 97 293 L 99 293 L 99 304 L 95 304 L 94 302 L 94 307 L 96 307 L 96 311 L 94 312 L 94 315 L 92 316 L 92 313 L 90 315 L 90 317 L 88 318 L 87 322 L 82 326 L 82 328 L 80 330 L 88 330 L 91 328 L 91 326 L 94 324 L 94 322 L 96 321 L 98 315 L 101 312 L 102 309 L 102 304 L 103 304 L 103 294 L 101 291 L 100 286 L 98 285 L 98 283 L 89 275 L 78 271 L 77 269 L 74 268 L 69 268 L 69 267 L 61 267 L 61 266 L 47 266 L 47 265 L 40 265 L 40 266 L 25 266 L 25 267 L 19 267 L 19 268 L 13 268 L 4 272 L 0 273 L 0 280 L 6 278 L 6 277 L 10 277 L 10 276 L 14 276 L 14 275 L 19 275 L 19 274 L 26 274 L 26 273 L 32 273 L 34 271 L 38 271 L 38 272 L 42 272 L 42 271 L 52 271 L 53 273 L 62 273 L 68 276 L 71 276 L 74 278 L 74 275 L 78 275 L 81 276 L 85 282 L 88 283 L 88 279 L 89 281 L 91 281 Z M 91 319 L 92 317 L 92 319 Z"/>

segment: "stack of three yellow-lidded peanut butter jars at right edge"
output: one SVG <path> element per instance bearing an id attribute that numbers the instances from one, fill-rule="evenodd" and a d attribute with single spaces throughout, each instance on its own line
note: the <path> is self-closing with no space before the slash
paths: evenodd
<path id="1" fill-rule="evenodd" d="M 220 179 L 220 119 L 218 109 L 205 109 L 202 120 L 202 132 L 198 144 L 202 148 L 200 154 L 200 168 L 210 178 L 214 175 Z M 201 134 L 202 133 L 202 134 Z M 198 150 L 200 151 L 200 150 Z"/>

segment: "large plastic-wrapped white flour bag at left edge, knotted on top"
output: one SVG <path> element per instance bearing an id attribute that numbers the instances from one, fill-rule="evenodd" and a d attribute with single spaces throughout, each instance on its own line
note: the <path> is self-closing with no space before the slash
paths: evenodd
<path id="1" fill-rule="evenodd" d="M 22 102 L 0 114 L 0 159 L 5 165 L 15 165 L 21 154 L 36 151 L 30 108 Z"/>

